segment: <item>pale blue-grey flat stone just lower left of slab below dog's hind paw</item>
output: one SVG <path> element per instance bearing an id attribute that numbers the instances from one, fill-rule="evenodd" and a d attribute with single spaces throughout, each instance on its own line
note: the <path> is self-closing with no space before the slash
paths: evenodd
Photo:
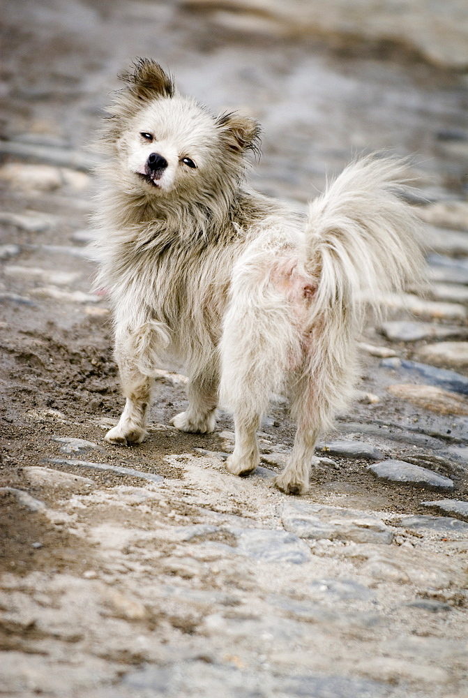
<path id="1" fill-rule="evenodd" d="M 232 528 L 236 536 L 236 553 L 266 563 L 293 563 L 302 565 L 311 558 L 310 548 L 299 537 L 285 530 L 259 528 Z"/>

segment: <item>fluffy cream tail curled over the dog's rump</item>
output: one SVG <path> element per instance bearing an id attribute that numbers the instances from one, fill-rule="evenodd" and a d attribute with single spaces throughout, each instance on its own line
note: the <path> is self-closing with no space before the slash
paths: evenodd
<path id="1" fill-rule="evenodd" d="M 307 257 L 319 276 L 317 315 L 351 313 L 356 325 L 367 304 L 379 312 L 386 293 L 422 283 L 421 223 L 401 198 L 405 170 L 398 158 L 361 158 L 310 203 Z"/>

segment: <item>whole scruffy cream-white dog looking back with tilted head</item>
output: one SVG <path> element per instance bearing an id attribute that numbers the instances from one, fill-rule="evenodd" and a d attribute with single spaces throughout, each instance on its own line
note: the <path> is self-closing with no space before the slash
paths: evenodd
<path id="1" fill-rule="evenodd" d="M 110 159 L 98 284 L 110 294 L 126 396 L 105 438 L 140 443 L 155 369 L 183 365 L 190 402 L 172 424 L 213 431 L 220 396 L 234 413 L 236 475 L 259 463 L 255 432 L 271 394 L 289 396 L 298 429 L 275 484 L 303 493 L 317 436 L 352 396 L 363 297 L 378 306 L 421 276 L 416 218 L 398 196 L 405 165 L 355 161 L 305 218 L 246 187 L 256 121 L 213 117 L 151 60 L 123 80 L 100 140 Z"/>

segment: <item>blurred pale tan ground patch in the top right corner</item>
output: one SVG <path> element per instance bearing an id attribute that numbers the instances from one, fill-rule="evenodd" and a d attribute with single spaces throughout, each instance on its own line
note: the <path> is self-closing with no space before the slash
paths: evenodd
<path id="1" fill-rule="evenodd" d="M 213 20 L 229 29 L 278 37 L 322 36 L 335 45 L 405 45 L 431 63 L 461 70 L 468 67 L 468 27 L 460 6 L 438 6 L 404 0 L 398 6 L 363 1 L 352 8 L 346 0 L 303 3 L 292 0 L 184 0 L 190 8 L 212 8 Z M 222 8 L 222 10 L 220 10 Z M 230 10 L 230 11 L 229 11 Z M 423 17 L 423 20 L 421 19 Z"/>

